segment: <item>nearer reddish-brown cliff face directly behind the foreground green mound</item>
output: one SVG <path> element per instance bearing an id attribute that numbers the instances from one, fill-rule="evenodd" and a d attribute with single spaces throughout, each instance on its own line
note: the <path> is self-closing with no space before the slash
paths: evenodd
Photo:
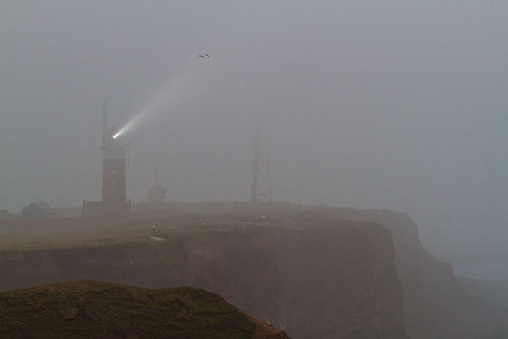
<path id="1" fill-rule="evenodd" d="M 226 226 L 153 244 L 2 253 L 0 289 L 81 279 L 195 286 L 268 319 L 292 338 L 407 337 L 393 242 L 383 226 Z"/>

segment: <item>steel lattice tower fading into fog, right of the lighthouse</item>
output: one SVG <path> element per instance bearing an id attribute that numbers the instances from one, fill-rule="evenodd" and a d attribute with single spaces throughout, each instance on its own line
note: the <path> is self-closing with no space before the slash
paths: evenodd
<path id="1" fill-rule="evenodd" d="M 265 141 L 266 141 L 265 136 Z M 256 128 L 252 147 L 252 183 L 250 202 L 272 202 L 272 183 L 270 180 L 270 159 L 266 142 L 260 145 L 260 128 Z"/>

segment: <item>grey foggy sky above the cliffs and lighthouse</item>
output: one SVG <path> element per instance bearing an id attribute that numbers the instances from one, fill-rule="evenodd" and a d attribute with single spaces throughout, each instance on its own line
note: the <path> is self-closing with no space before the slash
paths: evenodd
<path id="1" fill-rule="evenodd" d="M 162 95 L 123 136 L 133 202 L 155 160 L 169 201 L 247 201 L 261 120 L 274 200 L 405 211 L 430 246 L 500 246 L 507 17 L 502 1 L 0 1 L 0 208 L 100 200 L 99 97 L 122 127 Z"/>

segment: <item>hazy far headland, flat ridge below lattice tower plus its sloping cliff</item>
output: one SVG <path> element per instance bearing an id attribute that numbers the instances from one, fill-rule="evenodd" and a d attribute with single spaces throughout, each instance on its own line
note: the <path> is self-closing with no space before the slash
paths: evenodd
<path id="1" fill-rule="evenodd" d="M 148 207 L 135 205 L 134 210 L 146 217 Z M 315 228 L 319 227 L 319 221 L 365 221 L 385 226 L 393 237 L 397 276 L 404 288 L 405 328 L 412 339 L 472 338 L 508 326 L 505 313 L 492 310 L 457 282 L 450 263 L 437 260 L 423 249 L 418 226 L 406 213 L 289 203 L 261 207 L 239 203 L 167 203 L 156 209 L 158 215 L 233 211 L 258 219 L 264 214 L 288 228 Z"/>

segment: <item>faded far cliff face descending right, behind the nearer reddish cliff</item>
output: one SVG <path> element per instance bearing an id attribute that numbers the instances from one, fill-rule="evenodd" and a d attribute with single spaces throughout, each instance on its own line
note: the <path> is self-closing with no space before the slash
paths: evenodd
<path id="1" fill-rule="evenodd" d="M 437 260 L 422 248 L 418 227 L 406 213 L 320 208 L 291 212 L 285 218 L 290 215 L 307 220 L 309 227 L 316 227 L 315 220 L 360 220 L 382 224 L 391 231 L 397 276 L 404 287 L 406 331 L 412 339 L 473 338 L 508 326 L 508 315 L 468 293 L 455 279 L 450 263 Z"/>

